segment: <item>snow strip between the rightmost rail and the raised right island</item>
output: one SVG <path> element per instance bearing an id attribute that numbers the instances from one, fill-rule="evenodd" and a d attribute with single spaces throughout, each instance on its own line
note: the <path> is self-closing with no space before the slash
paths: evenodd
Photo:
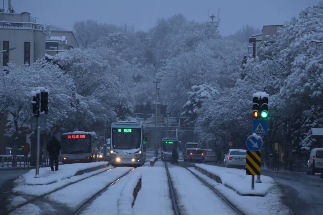
<path id="1" fill-rule="evenodd" d="M 213 185 L 215 189 L 220 191 L 228 200 L 231 201 L 238 209 L 248 215 L 287 215 L 291 214 L 290 210 L 281 203 L 282 192 L 277 185 L 273 186 L 264 197 L 260 196 L 241 196 L 235 191 L 225 187 L 223 184 L 217 183 L 213 179 L 204 175 L 200 171 L 189 167 L 195 174 L 199 175 L 206 182 Z M 238 181 L 236 179 L 236 181 Z M 250 182 L 251 183 L 251 182 Z M 258 183 L 257 183 L 258 184 Z M 251 184 L 249 184 L 251 186 Z M 211 213 L 212 214 L 212 213 Z M 219 213 L 222 214 L 222 213 Z M 230 214 L 230 213 L 229 213 Z"/>

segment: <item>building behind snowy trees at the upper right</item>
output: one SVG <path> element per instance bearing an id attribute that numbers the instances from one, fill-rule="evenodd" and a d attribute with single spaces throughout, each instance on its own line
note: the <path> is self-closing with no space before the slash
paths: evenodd
<path id="1" fill-rule="evenodd" d="M 250 57 L 258 57 L 259 61 L 266 60 L 270 56 L 264 56 L 260 54 L 260 48 L 264 41 L 270 41 L 274 35 L 277 35 L 277 30 L 279 27 L 283 27 L 284 25 L 264 25 L 261 34 L 251 35 L 249 37 L 249 43 L 251 46 L 247 47 L 247 54 L 244 56 L 242 65 L 246 62 L 247 58 Z M 243 66 L 242 66 L 243 67 Z"/>

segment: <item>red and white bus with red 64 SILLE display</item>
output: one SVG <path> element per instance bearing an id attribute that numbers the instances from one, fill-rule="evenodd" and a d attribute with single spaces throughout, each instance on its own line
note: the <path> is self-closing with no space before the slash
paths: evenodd
<path id="1" fill-rule="evenodd" d="M 97 134 L 95 132 L 68 132 L 60 138 L 62 163 L 98 161 Z"/>

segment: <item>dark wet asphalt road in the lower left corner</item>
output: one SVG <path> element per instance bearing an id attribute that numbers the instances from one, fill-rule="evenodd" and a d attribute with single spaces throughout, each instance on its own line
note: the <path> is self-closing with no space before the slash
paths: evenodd
<path id="1" fill-rule="evenodd" d="M 13 188 L 13 181 L 30 169 L 0 170 L 0 214 L 5 214 L 5 204 L 9 192 Z"/>

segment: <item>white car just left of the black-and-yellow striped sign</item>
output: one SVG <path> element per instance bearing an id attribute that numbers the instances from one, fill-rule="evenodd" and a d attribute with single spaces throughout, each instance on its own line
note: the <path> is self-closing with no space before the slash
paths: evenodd
<path id="1" fill-rule="evenodd" d="M 224 157 L 224 167 L 235 167 L 245 169 L 245 155 L 244 149 L 229 149 Z"/>

